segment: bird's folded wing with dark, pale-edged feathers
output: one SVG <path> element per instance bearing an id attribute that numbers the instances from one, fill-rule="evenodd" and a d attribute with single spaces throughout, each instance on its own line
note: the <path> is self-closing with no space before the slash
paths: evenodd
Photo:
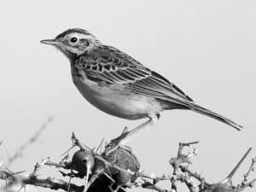
<path id="1" fill-rule="evenodd" d="M 144 67 L 119 49 L 102 45 L 101 48 L 95 49 L 81 61 L 85 64 L 83 69 L 89 79 L 108 84 L 123 84 L 124 89 L 144 96 L 172 100 L 177 103 L 183 101 L 183 104 L 186 101 L 193 102 L 175 84 L 169 82 L 159 73 Z"/>

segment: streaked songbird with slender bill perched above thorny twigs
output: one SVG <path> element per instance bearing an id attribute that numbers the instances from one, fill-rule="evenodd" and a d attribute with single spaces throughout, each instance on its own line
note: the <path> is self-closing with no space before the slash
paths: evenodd
<path id="1" fill-rule="evenodd" d="M 67 29 L 40 43 L 53 45 L 67 56 L 73 83 L 93 106 L 122 119 L 148 118 L 134 133 L 155 125 L 160 113 L 172 109 L 189 109 L 241 131 L 241 125 L 201 107 L 160 73 L 103 44 L 87 30 Z"/>

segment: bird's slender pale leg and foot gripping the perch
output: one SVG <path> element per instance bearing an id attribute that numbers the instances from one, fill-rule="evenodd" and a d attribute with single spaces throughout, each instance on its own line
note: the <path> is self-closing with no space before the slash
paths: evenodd
<path id="1" fill-rule="evenodd" d="M 108 150 L 106 151 L 106 154 L 110 154 L 120 145 L 125 145 L 125 143 L 129 141 L 131 136 L 136 135 L 139 131 L 142 131 L 148 127 L 153 126 L 158 121 L 160 116 L 159 114 L 154 114 L 154 116 L 151 116 L 149 118 L 150 119 L 148 119 L 148 121 L 144 122 L 141 125 L 138 125 L 137 127 L 133 128 L 131 131 L 127 131 L 125 129 L 125 131 L 123 131 L 123 133 L 119 137 L 113 138 L 106 146 L 106 148 L 108 148 Z"/>

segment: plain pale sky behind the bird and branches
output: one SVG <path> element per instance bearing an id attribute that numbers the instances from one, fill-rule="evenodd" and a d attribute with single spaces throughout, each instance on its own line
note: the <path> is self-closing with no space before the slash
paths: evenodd
<path id="1" fill-rule="evenodd" d="M 189 111 L 162 113 L 154 128 L 129 143 L 146 172 L 168 174 L 177 144 L 199 140 L 193 167 L 209 182 L 226 177 L 247 148 L 254 147 L 235 176 L 235 183 L 241 181 L 256 156 L 255 10 L 253 0 L 2 1 L 0 160 L 13 154 L 50 115 L 53 123 L 12 171 L 32 172 L 35 163 L 48 156 L 58 160 L 71 145 L 72 131 L 95 147 L 102 137 L 116 137 L 125 125 L 132 128 L 146 120 L 118 119 L 91 106 L 73 85 L 67 58 L 39 44 L 79 27 L 161 73 L 195 102 L 245 127 L 238 132 Z"/>

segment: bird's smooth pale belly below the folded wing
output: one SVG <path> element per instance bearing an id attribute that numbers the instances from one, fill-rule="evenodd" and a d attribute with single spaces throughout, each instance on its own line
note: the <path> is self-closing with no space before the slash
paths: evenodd
<path id="1" fill-rule="evenodd" d="M 97 84 L 88 79 L 73 80 L 88 102 L 119 118 L 143 119 L 161 111 L 160 104 L 154 98 L 132 94 L 122 85 Z"/>

